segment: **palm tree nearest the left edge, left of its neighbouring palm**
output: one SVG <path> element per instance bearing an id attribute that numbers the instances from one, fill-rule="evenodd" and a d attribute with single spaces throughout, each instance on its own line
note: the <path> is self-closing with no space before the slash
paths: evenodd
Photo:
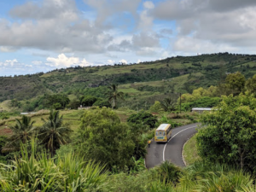
<path id="1" fill-rule="evenodd" d="M 32 137 L 32 133 L 35 131 L 31 117 L 22 116 L 21 119 L 15 119 L 16 125 L 10 126 L 13 131 L 13 135 L 9 137 L 9 143 L 7 143 L 2 151 L 15 151 L 20 148 L 20 142 L 26 143 Z"/>

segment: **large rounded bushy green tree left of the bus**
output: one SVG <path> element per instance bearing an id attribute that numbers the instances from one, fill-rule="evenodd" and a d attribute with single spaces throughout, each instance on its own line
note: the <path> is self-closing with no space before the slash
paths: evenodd
<path id="1" fill-rule="evenodd" d="M 110 108 L 87 110 L 81 117 L 77 149 L 86 159 L 106 164 L 111 170 L 131 166 L 135 143 L 130 128 Z"/>

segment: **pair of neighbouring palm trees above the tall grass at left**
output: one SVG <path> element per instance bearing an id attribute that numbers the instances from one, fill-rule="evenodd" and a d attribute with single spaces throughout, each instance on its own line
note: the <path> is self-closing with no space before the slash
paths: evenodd
<path id="1" fill-rule="evenodd" d="M 49 150 L 51 156 L 55 154 L 56 149 L 70 141 L 72 130 L 63 123 L 63 115 L 59 111 L 51 110 L 48 119 L 42 119 L 44 125 L 34 126 L 35 121 L 31 117 L 22 116 L 21 119 L 15 119 L 15 126 L 11 126 L 13 135 L 9 137 L 9 142 L 3 147 L 3 152 L 12 152 L 20 149 L 20 143 L 26 143 L 32 137 L 38 137 L 39 144 L 44 145 Z"/>

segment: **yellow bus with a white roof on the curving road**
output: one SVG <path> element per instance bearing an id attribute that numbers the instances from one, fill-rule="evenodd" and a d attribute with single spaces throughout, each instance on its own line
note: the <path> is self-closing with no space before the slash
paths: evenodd
<path id="1" fill-rule="evenodd" d="M 166 143 L 172 136 L 172 125 L 161 124 L 154 132 L 154 141 Z"/>

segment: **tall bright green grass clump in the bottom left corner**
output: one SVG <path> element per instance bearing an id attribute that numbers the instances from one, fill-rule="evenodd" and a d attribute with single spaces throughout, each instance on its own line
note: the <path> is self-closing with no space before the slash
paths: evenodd
<path id="1" fill-rule="evenodd" d="M 0 164 L 0 190 L 14 191 L 84 191 L 99 189 L 105 183 L 108 172 L 104 166 L 94 162 L 85 163 L 74 154 L 64 158 L 49 159 L 44 152 L 35 154 L 32 140 L 32 154 L 21 145 L 21 156 L 10 165 Z"/>

